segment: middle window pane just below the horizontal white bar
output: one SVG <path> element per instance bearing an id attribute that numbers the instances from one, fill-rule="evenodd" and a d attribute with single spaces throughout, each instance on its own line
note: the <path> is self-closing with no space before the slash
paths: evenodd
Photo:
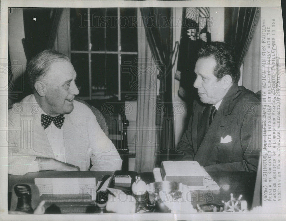
<path id="1" fill-rule="evenodd" d="M 92 54 L 92 92 L 118 92 L 118 55 Z"/>

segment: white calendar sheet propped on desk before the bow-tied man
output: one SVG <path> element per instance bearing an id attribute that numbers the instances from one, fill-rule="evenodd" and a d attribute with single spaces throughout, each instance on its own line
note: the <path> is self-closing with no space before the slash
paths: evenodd
<path id="1" fill-rule="evenodd" d="M 89 194 L 96 200 L 96 179 L 88 178 L 35 178 L 42 194 Z"/>

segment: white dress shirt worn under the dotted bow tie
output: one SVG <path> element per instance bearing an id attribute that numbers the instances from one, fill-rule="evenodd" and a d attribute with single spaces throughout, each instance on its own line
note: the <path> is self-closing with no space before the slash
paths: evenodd
<path id="1" fill-rule="evenodd" d="M 33 100 L 36 102 L 35 97 L 33 97 Z M 37 114 L 40 119 L 41 119 L 41 114 L 45 114 L 45 112 L 41 110 L 41 112 Z M 65 144 L 64 144 L 64 139 L 63 139 L 63 127 L 61 127 L 61 129 L 57 128 L 52 121 L 51 125 L 49 125 L 49 127 L 47 127 L 44 130 L 45 130 L 45 133 L 47 134 L 47 138 L 53 150 L 53 154 L 55 155 L 55 159 L 61 162 L 66 162 L 65 161 Z M 37 172 L 37 171 L 39 171 L 39 165 L 37 161 L 33 161 L 31 165 L 29 166 L 28 172 Z"/>

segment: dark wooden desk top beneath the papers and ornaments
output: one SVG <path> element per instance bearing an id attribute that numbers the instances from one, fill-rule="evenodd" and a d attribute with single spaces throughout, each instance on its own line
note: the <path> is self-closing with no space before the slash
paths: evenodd
<path id="1" fill-rule="evenodd" d="M 27 173 L 23 176 L 8 175 L 8 191 L 16 183 L 34 183 L 35 177 L 96 177 L 96 183 L 100 181 L 104 175 L 111 175 L 112 172 L 107 171 L 41 171 L 35 173 Z M 210 172 L 210 176 L 217 182 L 220 187 L 218 191 L 194 191 L 192 192 L 192 204 L 216 203 L 222 204 L 222 200 L 230 200 L 230 194 L 233 193 L 235 198 L 240 194 L 247 201 L 248 208 L 251 208 L 253 200 L 253 192 L 255 186 L 256 175 L 248 172 Z M 154 182 L 153 173 L 141 173 L 141 178 L 147 184 Z M 9 193 L 8 193 L 9 195 Z M 9 197 L 8 197 L 9 198 Z"/>

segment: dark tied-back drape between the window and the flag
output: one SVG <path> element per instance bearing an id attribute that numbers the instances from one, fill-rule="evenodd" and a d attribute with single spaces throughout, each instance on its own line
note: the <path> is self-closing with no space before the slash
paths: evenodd
<path id="1" fill-rule="evenodd" d="M 172 104 L 172 68 L 178 42 L 174 49 L 171 8 L 140 8 L 146 38 L 155 60 L 159 79 L 159 94 L 153 111 L 156 114 L 158 148 L 155 151 L 156 166 L 175 155 L 174 113 Z M 143 156 L 145 157 L 145 156 Z"/>

